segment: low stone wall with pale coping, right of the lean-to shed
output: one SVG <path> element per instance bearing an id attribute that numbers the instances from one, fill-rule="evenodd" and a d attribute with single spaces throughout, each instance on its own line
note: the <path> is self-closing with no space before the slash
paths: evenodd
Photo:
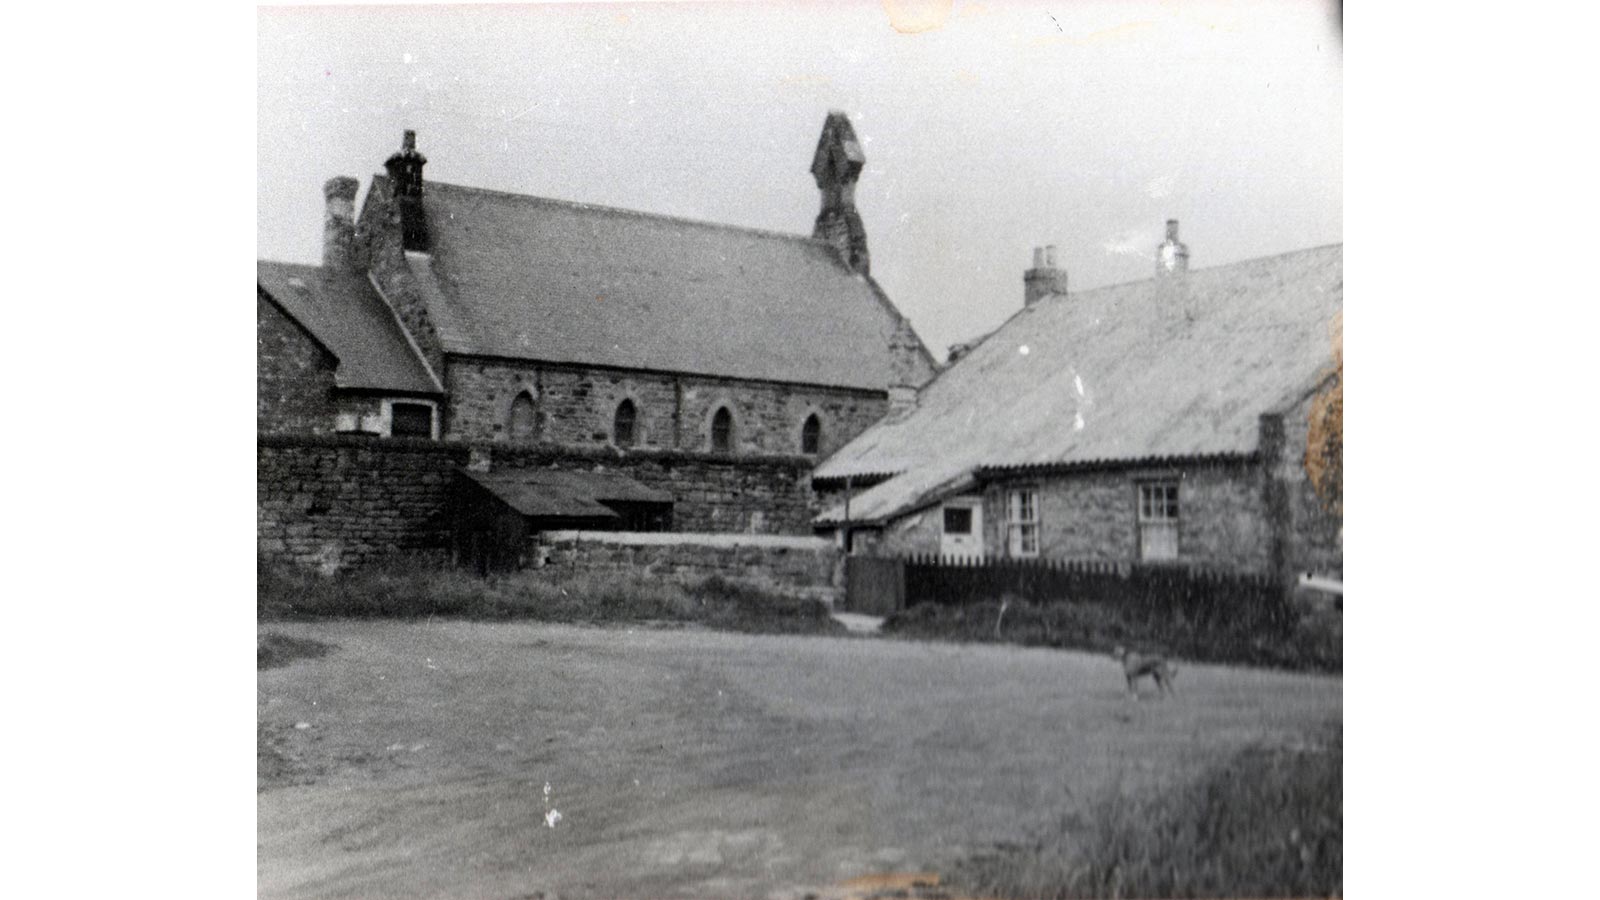
<path id="1" fill-rule="evenodd" d="M 822 538 L 632 532 L 549 532 L 547 564 L 677 581 L 728 580 L 834 604 L 843 597 L 843 557 Z"/>

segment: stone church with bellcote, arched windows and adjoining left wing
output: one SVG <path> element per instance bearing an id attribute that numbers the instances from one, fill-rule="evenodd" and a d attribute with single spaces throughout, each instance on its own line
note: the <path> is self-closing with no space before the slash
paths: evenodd
<path id="1" fill-rule="evenodd" d="M 826 458 L 936 364 L 872 280 L 829 114 L 810 235 L 442 184 L 406 131 L 325 186 L 322 266 L 259 261 L 258 426 Z"/>

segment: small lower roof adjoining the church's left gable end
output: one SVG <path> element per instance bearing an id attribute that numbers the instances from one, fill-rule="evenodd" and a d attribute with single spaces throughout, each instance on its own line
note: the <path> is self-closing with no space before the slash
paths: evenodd
<path id="1" fill-rule="evenodd" d="M 339 359 L 339 388 L 442 394 L 365 275 L 256 261 L 256 285 Z"/>

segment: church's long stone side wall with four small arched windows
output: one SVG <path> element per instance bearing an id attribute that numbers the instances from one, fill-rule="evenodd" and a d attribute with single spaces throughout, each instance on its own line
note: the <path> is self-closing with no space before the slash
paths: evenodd
<path id="1" fill-rule="evenodd" d="M 888 410 L 882 391 L 469 357 L 450 359 L 445 383 L 451 397 L 446 437 L 496 444 L 605 447 L 618 405 L 632 400 L 642 448 L 709 452 L 712 415 L 728 407 L 736 455 L 798 455 L 800 426 L 814 413 L 822 423 L 821 460 Z M 510 431 L 520 394 L 534 404 L 531 434 Z"/>

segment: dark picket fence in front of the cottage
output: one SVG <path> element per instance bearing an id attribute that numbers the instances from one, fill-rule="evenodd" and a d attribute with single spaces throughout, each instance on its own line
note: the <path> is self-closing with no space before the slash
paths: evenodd
<path id="1" fill-rule="evenodd" d="M 1283 588 L 1269 575 L 1208 572 L 1181 565 L 1019 559 L 949 560 L 914 556 L 906 569 L 906 607 L 960 607 L 1013 596 L 1030 604 L 1115 607 L 1136 623 L 1181 621 L 1194 628 L 1291 628 Z"/>

